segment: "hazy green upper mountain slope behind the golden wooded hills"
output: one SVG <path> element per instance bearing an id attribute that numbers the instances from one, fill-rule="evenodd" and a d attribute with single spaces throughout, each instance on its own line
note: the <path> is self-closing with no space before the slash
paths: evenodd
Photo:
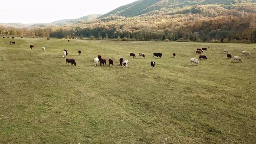
<path id="1" fill-rule="evenodd" d="M 98 19 L 110 15 L 118 15 L 125 17 L 138 16 L 150 13 L 154 10 L 170 11 L 177 10 L 187 6 L 217 4 L 226 9 L 231 9 L 231 5 L 237 3 L 254 3 L 256 0 L 138 0 L 125 6 L 118 7 L 109 13 L 99 16 Z M 236 7 L 239 7 L 238 5 Z M 253 10 L 252 10 L 253 11 Z"/>

